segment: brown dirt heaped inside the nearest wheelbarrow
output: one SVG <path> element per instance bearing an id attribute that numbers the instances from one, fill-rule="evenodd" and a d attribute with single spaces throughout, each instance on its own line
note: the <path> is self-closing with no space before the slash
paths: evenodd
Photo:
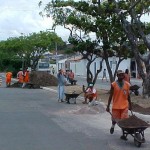
<path id="1" fill-rule="evenodd" d="M 130 116 L 127 119 L 122 119 L 118 122 L 120 127 L 132 127 L 132 128 L 140 128 L 140 127 L 148 127 L 149 124 L 135 115 Z"/>

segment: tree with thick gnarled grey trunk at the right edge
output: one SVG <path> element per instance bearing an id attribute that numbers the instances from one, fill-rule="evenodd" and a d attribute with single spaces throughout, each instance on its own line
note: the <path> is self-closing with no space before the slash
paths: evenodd
<path id="1" fill-rule="evenodd" d="M 114 5 L 114 13 L 120 17 L 124 32 L 130 42 L 134 58 L 137 62 L 138 73 L 143 79 L 143 94 L 150 96 L 150 40 L 148 40 L 146 36 L 150 33 L 150 30 L 149 24 L 141 21 L 142 16 L 150 12 L 150 1 L 126 0 L 117 2 L 115 0 L 109 0 L 109 3 Z M 120 3 L 122 3 L 122 7 L 118 7 Z M 127 16 L 131 19 L 127 19 Z M 140 43 L 143 42 L 145 52 L 148 50 L 147 56 L 142 55 L 143 53 L 140 50 L 139 41 Z M 144 72 L 143 63 L 144 66 L 146 66 L 146 74 Z"/>

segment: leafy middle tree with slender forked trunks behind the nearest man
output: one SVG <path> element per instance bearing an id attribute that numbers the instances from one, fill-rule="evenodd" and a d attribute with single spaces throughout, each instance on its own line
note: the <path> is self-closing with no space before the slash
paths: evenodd
<path id="1" fill-rule="evenodd" d="M 60 0 L 49 2 L 45 10 L 47 16 L 51 15 L 54 19 L 54 26 L 63 25 L 70 30 L 69 41 L 75 45 L 75 50 L 88 60 L 87 80 L 96 81 L 98 74 L 93 78 L 90 64 L 97 57 L 101 57 L 106 62 L 110 81 L 114 81 L 120 62 L 129 57 L 131 51 L 125 46 L 127 37 L 117 14 L 114 14 L 113 6 L 100 1 L 91 3 Z M 91 32 L 95 33 L 95 40 L 90 38 Z M 82 37 L 80 33 L 83 33 Z M 119 58 L 114 74 L 108 61 L 108 57 L 112 56 Z M 102 66 L 97 73 L 101 68 Z"/>

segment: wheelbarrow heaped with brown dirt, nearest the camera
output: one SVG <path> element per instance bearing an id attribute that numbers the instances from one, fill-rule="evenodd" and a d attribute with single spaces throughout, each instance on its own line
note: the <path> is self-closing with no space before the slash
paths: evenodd
<path id="1" fill-rule="evenodd" d="M 129 118 L 121 119 L 116 121 L 116 123 L 122 129 L 123 137 L 125 137 L 125 139 L 127 139 L 129 134 L 134 138 L 135 146 L 140 147 L 142 143 L 145 143 L 144 130 L 150 126 L 147 122 L 136 117 L 132 113 Z"/>

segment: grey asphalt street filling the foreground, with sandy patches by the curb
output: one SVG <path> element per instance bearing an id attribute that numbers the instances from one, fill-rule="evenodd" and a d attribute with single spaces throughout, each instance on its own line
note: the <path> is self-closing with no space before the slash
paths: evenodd
<path id="1" fill-rule="evenodd" d="M 57 102 L 57 92 L 46 89 L 0 87 L 0 150 L 131 150 L 137 149 L 132 136 L 120 140 L 116 126 L 110 135 L 111 117 L 107 112 L 75 114 L 88 107 Z M 140 114 L 138 114 L 140 116 Z M 150 120 L 149 116 L 142 118 Z M 145 130 L 149 150 L 150 129 Z"/>

